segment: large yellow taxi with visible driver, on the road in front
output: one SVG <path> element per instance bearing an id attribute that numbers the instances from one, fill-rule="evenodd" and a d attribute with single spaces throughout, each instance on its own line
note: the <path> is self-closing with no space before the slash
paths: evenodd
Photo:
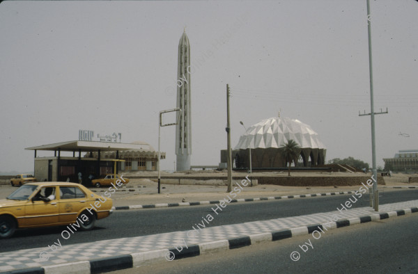
<path id="1" fill-rule="evenodd" d="M 17 228 L 71 225 L 93 229 L 96 219 L 112 213 L 112 200 L 85 186 L 65 182 L 28 183 L 0 200 L 0 239 Z"/>

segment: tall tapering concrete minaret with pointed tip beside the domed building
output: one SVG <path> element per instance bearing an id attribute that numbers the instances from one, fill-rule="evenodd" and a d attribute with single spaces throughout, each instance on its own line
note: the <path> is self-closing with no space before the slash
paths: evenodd
<path id="1" fill-rule="evenodd" d="M 192 116 L 190 97 L 190 45 L 186 31 L 178 42 L 177 107 L 181 109 L 176 126 L 177 171 L 190 169 L 192 154 Z"/>

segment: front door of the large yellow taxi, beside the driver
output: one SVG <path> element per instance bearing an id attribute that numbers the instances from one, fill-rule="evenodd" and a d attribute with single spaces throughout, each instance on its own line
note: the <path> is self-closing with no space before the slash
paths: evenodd
<path id="1" fill-rule="evenodd" d="M 43 186 L 35 196 L 44 196 L 45 191 L 48 192 L 47 188 L 50 188 L 49 191 L 52 191 L 52 195 L 55 196 L 54 200 L 49 202 L 42 200 L 29 200 L 25 207 L 25 216 L 22 218 L 22 225 L 36 226 L 58 223 L 59 208 L 55 195 L 56 186 Z"/>

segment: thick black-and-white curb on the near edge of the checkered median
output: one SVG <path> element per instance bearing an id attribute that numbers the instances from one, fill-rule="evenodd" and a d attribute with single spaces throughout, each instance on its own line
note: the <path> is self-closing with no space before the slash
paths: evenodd
<path id="1" fill-rule="evenodd" d="M 317 229 L 322 230 L 324 229 L 324 227 L 327 227 L 327 229 L 347 227 L 349 225 L 369 223 L 372 220 L 384 220 L 387 218 L 403 216 L 408 213 L 415 212 L 418 212 L 418 207 L 410 207 L 407 209 L 388 211 L 385 213 L 373 213 L 369 216 L 340 219 L 336 220 L 335 222 L 331 221 L 327 223 L 318 223 L 316 225 L 293 227 L 291 229 L 283 229 L 274 232 L 239 236 L 237 238 L 232 239 L 199 243 L 189 245 L 187 249 L 183 248 L 183 250 L 180 250 L 180 252 L 176 248 L 166 248 L 160 250 L 132 253 L 127 255 L 119 255 L 114 257 L 106 257 L 102 259 L 92 259 L 90 261 L 77 261 L 68 264 L 56 264 L 52 266 L 25 268 L 3 273 L 104 273 L 109 271 L 118 271 L 126 268 L 143 266 L 145 264 L 153 264 L 157 262 L 171 261 L 174 259 L 195 257 L 199 255 L 204 255 L 208 252 L 218 252 L 235 248 L 242 248 L 248 245 L 254 245 L 256 243 L 262 243 L 265 241 L 279 241 L 282 239 L 291 238 L 293 236 L 312 234 Z"/>

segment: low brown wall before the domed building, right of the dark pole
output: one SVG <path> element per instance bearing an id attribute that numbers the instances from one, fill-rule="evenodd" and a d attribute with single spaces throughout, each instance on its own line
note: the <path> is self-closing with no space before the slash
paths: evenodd
<path id="1" fill-rule="evenodd" d="M 258 184 L 277 184 L 280 186 L 358 186 L 367 185 L 368 176 L 359 177 L 258 177 Z M 378 184 L 385 184 L 378 175 Z"/>

